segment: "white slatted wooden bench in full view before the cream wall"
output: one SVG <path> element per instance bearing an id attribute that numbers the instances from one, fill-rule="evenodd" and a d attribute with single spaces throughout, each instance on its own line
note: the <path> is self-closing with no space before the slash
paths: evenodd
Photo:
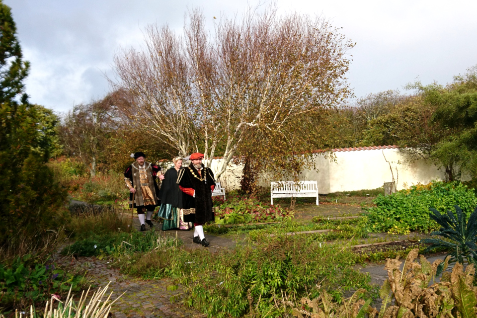
<path id="1" fill-rule="evenodd" d="M 272 182 L 270 190 L 271 204 L 273 198 L 304 198 L 317 197 L 318 205 L 318 181 L 278 181 Z"/>

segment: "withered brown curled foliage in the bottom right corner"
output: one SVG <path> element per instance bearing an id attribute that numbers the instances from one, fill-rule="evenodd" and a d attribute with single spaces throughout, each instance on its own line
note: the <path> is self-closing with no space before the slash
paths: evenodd
<path id="1" fill-rule="evenodd" d="M 475 318 L 477 287 L 473 285 L 475 268 L 456 263 L 452 272 L 444 271 L 440 282 L 436 283 L 437 266 L 442 260 L 430 263 L 420 255 L 419 250 L 409 252 L 402 266 L 401 261 L 388 259 L 386 270 L 388 279 L 380 291 L 382 306 L 380 311 L 359 297 L 365 290 L 358 290 L 341 305 L 333 303 L 331 297 L 322 291 L 317 299 L 303 298 L 302 306 L 292 306 L 295 317 L 312 318 Z M 447 268 L 448 258 L 444 261 Z M 445 270 L 445 269 L 444 269 Z"/>

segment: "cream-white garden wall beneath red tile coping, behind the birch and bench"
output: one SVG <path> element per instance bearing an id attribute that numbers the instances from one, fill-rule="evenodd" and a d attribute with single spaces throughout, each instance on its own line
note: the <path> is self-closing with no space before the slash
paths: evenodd
<path id="1" fill-rule="evenodd" d="M 391 182 L 393 179 L 391 168 L 397 180 L 397 190 L 445 178 L 443 169 L 423 159 L 409 163 L 406 155 L 397 148 L 390 146 L 373 148 L 378 149 L 335 149 L 331 156 L 316 154 L 314 156 L 317 160 L 317 169 L 302 171 L 300 179 L 318 180 L 318 192 L 326 194 L 382 187 L 384 182 Z M 214 172 L 220 160 L 213 160 Z M 227 172 L 221 176 L 222 186 L 228 191 L 238 189 L 242 169 L 242 165 L 229 164 Z"/>

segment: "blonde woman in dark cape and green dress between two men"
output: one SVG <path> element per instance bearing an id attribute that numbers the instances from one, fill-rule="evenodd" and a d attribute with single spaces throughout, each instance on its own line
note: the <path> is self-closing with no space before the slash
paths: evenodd
<path id="1" fill-rule="evenodd" d="M 168 169 L 164 174 L 164 180 L 160 187 L 160 208 L 158 217 L 164 219 L 162 231 L 179 229 L 190 230 L 192 223 L 184 222 L 182 213 L 182 191 L 177 184 L 177 173 L 182 166 L 182 158 L 172 159 L 174 166 Z"/>

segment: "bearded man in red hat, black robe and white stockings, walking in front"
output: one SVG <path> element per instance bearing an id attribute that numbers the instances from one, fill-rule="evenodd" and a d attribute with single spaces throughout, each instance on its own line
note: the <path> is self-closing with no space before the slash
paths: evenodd
<path id="1" fill-rule="evenodd" d="M 184 192 L 182 205 L 184 222 L 194 222 L 193 241 L 202 246 L 209 246 L 205 239 L 204 223 L 214 221 L 212 191 L 215 188 L 214 173 L 202 164 L 203 154 L 190 155 L 192 163 L 179 171 L 177 184 Z"/>

